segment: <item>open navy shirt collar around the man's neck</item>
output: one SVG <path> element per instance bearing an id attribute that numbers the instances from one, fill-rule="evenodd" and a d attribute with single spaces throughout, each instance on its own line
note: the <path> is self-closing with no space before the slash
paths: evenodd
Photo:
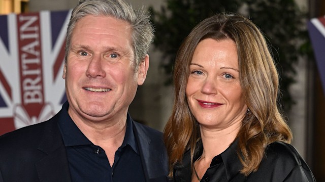
<path id="1" fill-rule="evenodd" d="M 69 116 L 68 108 L 69 103 L 67 101 L 62 106 L 63 112 L 58 121 L 64 146 L 71 147 L 81 145 L 92 145 L 92 142 L 87 139 L 87 137 L 80 131 L 78 126 L 75 124 L 75 122 L 73 122 L 73 120 Z M 133 122 L 129 114 L 127 114 L 125 136 L 120 148 L 123 148 L 126 145 L 129 145 L 137 154 L 139 154 L 133 131 Z"/>

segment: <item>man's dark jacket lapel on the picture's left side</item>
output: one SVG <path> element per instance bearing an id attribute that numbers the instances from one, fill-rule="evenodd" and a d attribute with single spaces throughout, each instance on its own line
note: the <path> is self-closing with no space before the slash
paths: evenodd
<path id="1" fill-rule="evenodd" d="M 39 150 L 46 156 L 36 163 L 40 181 L 71 181 L 69 164 L 61 134 L 58 128 L 57 114 L 44 128 Z"/>

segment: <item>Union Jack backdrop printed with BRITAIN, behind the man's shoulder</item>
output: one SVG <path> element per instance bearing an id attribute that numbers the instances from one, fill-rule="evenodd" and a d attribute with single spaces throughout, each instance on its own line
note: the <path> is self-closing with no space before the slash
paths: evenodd
<path id="1" fill-rule="evenodd" d="M 70 14 L 0 16 L 0 135 L 49 119 L 66 101 L 62 72 Z"/>

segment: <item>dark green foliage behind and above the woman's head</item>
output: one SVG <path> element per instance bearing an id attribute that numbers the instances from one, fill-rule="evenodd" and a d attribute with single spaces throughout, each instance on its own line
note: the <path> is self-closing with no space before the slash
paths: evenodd
<path id="1" fill-rule="evenodd" d="M 288 88 L 295 82 L 294 65 L 308 47 L 304 14 L 294 0 L 167 0 L 166 7 L 152 12 L 155 26 L 155 48 L 163 52 L 160 65 L 167 84 L 172 81 L 172 68 L 178 48 L 191 29 L 203 19 L 221 12 L 236 12 L 247 7 L 250 20 L 265 33 L 281 77 L 282 103 L 287 111 L 294 104 Z M 301 51 L 302 50 L 302 51 Z"/>

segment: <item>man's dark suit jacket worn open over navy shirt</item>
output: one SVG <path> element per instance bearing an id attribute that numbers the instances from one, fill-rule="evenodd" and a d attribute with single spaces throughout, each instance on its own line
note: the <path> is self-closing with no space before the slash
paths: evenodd
<path id="1" fill-rule="evenodd" d="M 61 112 L 48 121 L 0 136 L 0 182 L 71 181 L 66 148 L 57 123 Z M 137 122 L 134 122 L 134 132 L 146 181 L 167 181 L 167 153 L 162 133 Z"/>

